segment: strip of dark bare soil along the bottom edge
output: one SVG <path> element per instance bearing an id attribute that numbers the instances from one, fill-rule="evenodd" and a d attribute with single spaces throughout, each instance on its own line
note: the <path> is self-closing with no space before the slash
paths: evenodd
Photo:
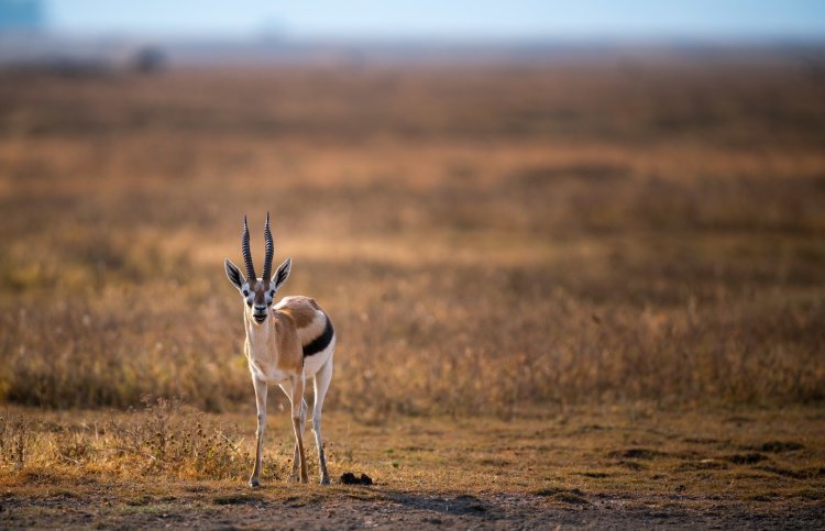
<path id="1" fill-rule="evenodd" d="M 294 488 L 302 488 L 295 486 Z M 364 495 L 361 489 L 369 488 Z M 816 529 L 825 505 L 767 504 L 759 508 L 718 496 L 625 497 L 600 495 L 581 501 L 547 500 L 527 494 L 426 495 L 385 486 L 330 487 L 332 494 L 271 497 L 268 488 L 234 494 L 205 487 L 184 496 L 124 501 L 108 488 L 94 496 L 69 493 L 43 498 L 7 494 L 2 528 L 210 529 L 538 529 L 538 528 L 781 528 Z M 312 491 L 317 487 L 311 488 Z"/>

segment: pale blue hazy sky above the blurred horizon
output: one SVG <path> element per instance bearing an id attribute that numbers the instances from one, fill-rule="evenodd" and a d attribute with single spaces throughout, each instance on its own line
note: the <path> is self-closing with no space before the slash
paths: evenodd
<path id="1" fill-rule="evenodd" d="M 51 0 L 56 30 L 292 37 L 825 37 L 825 0 Z"/>

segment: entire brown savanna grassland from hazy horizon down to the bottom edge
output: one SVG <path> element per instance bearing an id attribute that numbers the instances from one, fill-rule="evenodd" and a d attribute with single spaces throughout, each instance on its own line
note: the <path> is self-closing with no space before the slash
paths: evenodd
<path id="1" fill-rule="evenodd" d="M 821 57 L 0 73 L 0 524 L 822 523 Z M 267 210 L 373 487 L 244 487 Z"/>

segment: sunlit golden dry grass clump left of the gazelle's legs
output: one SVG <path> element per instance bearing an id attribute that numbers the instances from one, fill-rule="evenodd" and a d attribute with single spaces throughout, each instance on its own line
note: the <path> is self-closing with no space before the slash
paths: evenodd
<path id="1" fill-rule="evenodd" d="M 238 478 L 246 472 L 248 449 L 241 447 L 244 438 L 237 427 L 218 425 L 175 401 L 144 397 L 143 408 L 119 416 L 45 419 L 34 411 L 0 419 L 7 472 L 189 479 Z"/>

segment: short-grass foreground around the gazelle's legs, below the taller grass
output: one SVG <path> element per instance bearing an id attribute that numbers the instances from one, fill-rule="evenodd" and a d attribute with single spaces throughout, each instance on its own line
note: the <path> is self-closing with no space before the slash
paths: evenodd
<path id="1" fill-rule="evenodd" d="M 818 408 L 690 411 L 571 407 L 491 417 L 326 417 L 330 473 L 372 487 L 286 483 L 292 438 L 271 416 L 263 487 L 250 490 L 251 411 L 199 413 L 154 401 L 132 412 L 12 408 L 0 505 L 11 526 L 383 527 L 814 526 L 825 500 Z M 11 430 L 9 418 L 15 425 Z M 317 477 L 315 452 L 310 471 Z M 578 516 L 576 516 L 578 515 Z M 320 519 L 320 522 L 318 521 Z M 405 519 L 399 522 L 398 519 Z M 557 521 L 562 519 L 562 522 Z M 337 522 L 337 523 L 336 523 Z"/>

